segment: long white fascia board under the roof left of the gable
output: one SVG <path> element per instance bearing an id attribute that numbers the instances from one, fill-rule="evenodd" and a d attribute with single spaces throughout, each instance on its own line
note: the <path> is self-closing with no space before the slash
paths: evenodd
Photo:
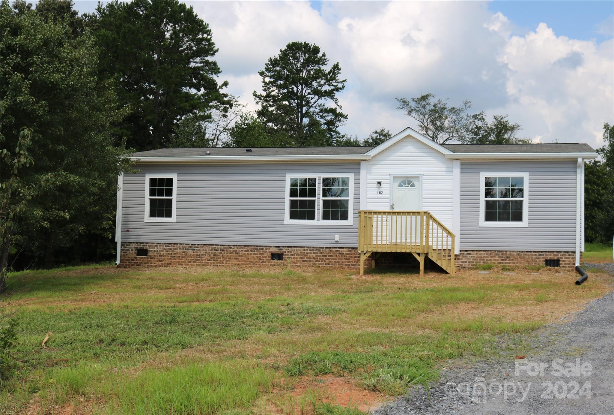
<path id="1" fill-rule="evenodd" d="M 298 162 L 298 161 L 362 161 L 368 160 L 371 156 L 367 154 L 316 154 L 305 156 L 196 156 L 196 157 L 177 157 L 177 156 L 159 156 L 159 157 L 130 157 L 130 160 L 136 162 L 147 163 L 168 163 L 168 162 Z"/>

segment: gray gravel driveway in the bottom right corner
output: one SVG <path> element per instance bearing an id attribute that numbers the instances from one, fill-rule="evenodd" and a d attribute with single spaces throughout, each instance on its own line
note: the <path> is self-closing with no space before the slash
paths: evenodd
<path id="1" fill-rule="evenodd" d="M 524 359 L 449 362 L 429 393 L 416 387 L 373 414 L 614 414 L 614 293 L 526 341 L 537 347 Z"/>

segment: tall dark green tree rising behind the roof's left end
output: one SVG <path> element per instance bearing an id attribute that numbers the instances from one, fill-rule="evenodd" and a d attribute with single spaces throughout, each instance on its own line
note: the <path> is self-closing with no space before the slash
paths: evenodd
<path id="1" fill-rule="evenodd" d="M 221 92 L 227 82 L 217 83 L 211 29 L 192 7 L 176 0 L 114 1 L 98 6 L 90 23 L 104 50 L 99 79 L 117 81 L 119 107 L 129 108 L 114 133 L 131 148 L 171 146 L 186 117 L 210 117 L 216 105 L 230 104 Z"/>

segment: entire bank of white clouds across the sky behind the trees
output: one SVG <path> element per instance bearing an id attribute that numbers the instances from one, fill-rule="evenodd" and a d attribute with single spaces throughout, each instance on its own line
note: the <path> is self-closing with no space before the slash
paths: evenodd
<path id="1" fill-rule="evenodd" d="M 367 136 L 413 122 L 395 97 L 433 92 L 475 111 L 509 114 L 542 142 L 599 145 L 614 121 L 612 40 L 556 36 L 545 24 L 511 36 L 510 22 L 483 2 L 194 2 L 211 25 L 228 91 L 255 108 L 257 71 L 290 41 L 320 45 L 348 79 L 344 132 Z M 607 23 L 607 22 L 604 22 Z"/>

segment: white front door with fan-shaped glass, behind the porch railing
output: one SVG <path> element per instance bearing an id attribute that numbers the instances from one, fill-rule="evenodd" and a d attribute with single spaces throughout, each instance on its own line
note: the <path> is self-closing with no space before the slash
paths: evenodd
<path id="1" fill-rule="evenodd" d="M 420 176 L 393 176 L 391 210 L 421 210 Z M 418 243 L 421 218 L 416 215 L 393 217 L 391 221 L 392 243 Z"/>

